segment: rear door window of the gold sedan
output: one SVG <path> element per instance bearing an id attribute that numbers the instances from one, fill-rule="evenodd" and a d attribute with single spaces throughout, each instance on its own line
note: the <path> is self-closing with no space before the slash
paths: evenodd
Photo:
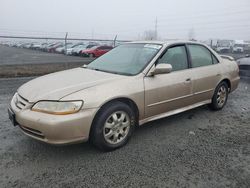
<path id="1" fill-rule="evenodd" d="M 211 52 L 201 45 L 188 45 L 192 67 L 202 67 L 213 64 Z"/>

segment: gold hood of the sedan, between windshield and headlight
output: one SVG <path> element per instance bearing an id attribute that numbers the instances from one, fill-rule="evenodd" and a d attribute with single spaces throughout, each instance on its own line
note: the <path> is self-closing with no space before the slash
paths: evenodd
<path id="1" fill-rule="evenodd" d="M 22 85 L 17 92 L 31 103 L 39 100 L 60 100 L 77 91 L 125 77 L 85 68 L 76 68 L 33 79 Z"/>

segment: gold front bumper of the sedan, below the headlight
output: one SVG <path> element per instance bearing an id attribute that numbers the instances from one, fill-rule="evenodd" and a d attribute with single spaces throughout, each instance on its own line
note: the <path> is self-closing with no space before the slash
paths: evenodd
<path id="1" fill-rule="evenodd" d="M 49 144 L 62 145 L 87 141 L 98 109 L 84 109 L 75 114 L 52 115 L 18 109 L 11 101 L 15 121 L 24 134 Z"/>

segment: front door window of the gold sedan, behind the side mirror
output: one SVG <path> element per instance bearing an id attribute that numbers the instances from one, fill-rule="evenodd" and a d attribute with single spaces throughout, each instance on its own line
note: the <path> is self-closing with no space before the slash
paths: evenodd
<path id="1" fill-rule="evenodd" d="M 188 68 L 187 52 L 185 46 L 175 46 L 169 48 L 158 60 L 158 63 L 171 64 L 172 71 L 184 70 Z"/>

